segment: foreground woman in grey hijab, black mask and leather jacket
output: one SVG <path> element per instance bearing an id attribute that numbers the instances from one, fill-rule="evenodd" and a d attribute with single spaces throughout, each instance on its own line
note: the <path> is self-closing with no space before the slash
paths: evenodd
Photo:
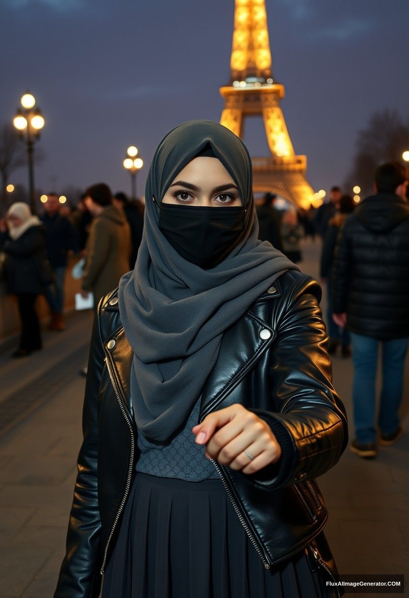
<path id="1" fill-rule="evenodd" d="M 100 301 L 54 598 L 315 598 L 337 569 L 315 477 L 347 443 L 321 289 L 258 240 L 251 158 L 173 129 L 135 270 Z"/>

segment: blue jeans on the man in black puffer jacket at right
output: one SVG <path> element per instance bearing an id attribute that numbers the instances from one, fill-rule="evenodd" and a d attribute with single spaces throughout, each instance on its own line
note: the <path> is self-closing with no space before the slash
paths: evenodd
<path id="1" fill-rule="evenodd" d="M 378 426 L 383 434 L 395 432 L 402 401 L 403 374 L 408 337 L 379 341 L 350 332 L 353 362 L 353 423 L 359 443 L 376 441 L 375 405 L 376 371 L 379 344 L 382 347 L 382 390 Z"/>

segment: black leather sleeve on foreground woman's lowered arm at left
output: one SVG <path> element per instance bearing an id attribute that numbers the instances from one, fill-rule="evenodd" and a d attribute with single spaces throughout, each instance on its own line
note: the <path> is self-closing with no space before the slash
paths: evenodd
<path id="1" fill-rule="evenodd" d="M 98 307 L 98 312 L 100 305 Z M 83 443 L 69 515 L 66 555 L 54 598 L 99 596 L 101 576 L 100 517 L 97 497 L 97 396 L 104 362 L 97 316 L 94 318 L 83 407 Z"/>

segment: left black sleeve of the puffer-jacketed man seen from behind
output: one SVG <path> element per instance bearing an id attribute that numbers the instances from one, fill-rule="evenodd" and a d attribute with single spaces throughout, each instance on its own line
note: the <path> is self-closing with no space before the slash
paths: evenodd
<path id="1" fill-rule="evenodd" d="M 338 235 L 332 267 L 332 313 L 344 313 L 347 310 L 348 279 L 352 269 L 352 257 L 348 235 L 348 221 L 344 223 Z"/>

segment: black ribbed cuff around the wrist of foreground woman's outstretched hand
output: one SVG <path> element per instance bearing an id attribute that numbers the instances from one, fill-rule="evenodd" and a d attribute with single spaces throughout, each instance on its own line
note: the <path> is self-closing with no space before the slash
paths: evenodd
<path id="1" fill-rule="evenodd" d="M 297 448 L 295 447 L 294 438 L 286 426 L 280 422 L 274 413 L 265 411 L 263 409 L 249 408 L 255 415 L 263 419 L 265 423 L 270 426 L 271 431 L 277 439 L 281 447 L 281 456 L 275 463 L 265 465 L 254 474 L 246 475 L 252 480 L 255 486 L 263 487 L 268 490 L 276 490 L 285 486 L 292 479 L 297 463 Z"/>

